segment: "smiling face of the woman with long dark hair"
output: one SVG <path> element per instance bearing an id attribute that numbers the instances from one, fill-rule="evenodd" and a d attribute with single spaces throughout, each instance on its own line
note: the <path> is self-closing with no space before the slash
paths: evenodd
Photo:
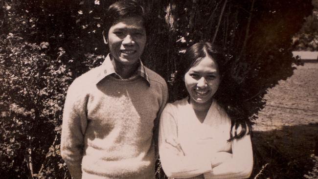
<path id="1" fill-rule="evenodd" d="M 184 75 L 186 90 L 191 104 L 206 104 L 212 102 L 212 97 L 219 88 L 220 74 L 216 61 L 206 56 Z"/>

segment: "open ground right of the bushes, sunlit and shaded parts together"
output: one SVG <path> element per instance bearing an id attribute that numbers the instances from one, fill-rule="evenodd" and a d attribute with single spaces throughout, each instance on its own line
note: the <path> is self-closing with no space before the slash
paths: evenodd
<path id="1" fill-rule="evenodd" d="M 318 179 L 318 63 L 298 66 L 265 99 L 253 126 L 253 176 Z"/>

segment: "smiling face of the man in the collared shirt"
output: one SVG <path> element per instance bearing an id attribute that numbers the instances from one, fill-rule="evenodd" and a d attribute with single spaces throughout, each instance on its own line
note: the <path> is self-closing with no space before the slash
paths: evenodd
<path id="1" fill-rule="evenodd" d="M 108 32 L 115 63 L 131 66 L 138 62 L 146 44 L 146 31 L 140 17 L 119 19 Z"/>

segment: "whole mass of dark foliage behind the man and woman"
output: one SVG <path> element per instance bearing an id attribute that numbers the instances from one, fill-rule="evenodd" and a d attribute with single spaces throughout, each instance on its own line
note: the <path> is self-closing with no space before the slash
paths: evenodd
<path id="1" fill-rule="evenodd" d="M 102 18 L 113 1 L 0 1 L 2 178 L 70 179 L 59 151 L 65 95 L 108 53 Z M 142 59 L 168 81 L 170 100 L 185 92 L 177 78 L 184 50 L 209 41 L 227 56 L 218 100 L 249 123 L 265 105 L 266 90 L 293 74 L 291 39 L 311 12 L 309 0 L 140 2 L 149 13 Z"/>

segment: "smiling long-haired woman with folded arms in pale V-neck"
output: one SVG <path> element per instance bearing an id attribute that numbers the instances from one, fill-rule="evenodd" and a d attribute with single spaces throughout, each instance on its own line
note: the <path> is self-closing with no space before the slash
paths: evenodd
<path id="1" fill-rule="evenodd" d="M 209 43 L 192 45 L 184 54 L 183 81 L 188 97 L 167 104 L 160 117 L 159 155 L 169 178 L 250 177 L 249 127 L 232 124 L 213 97 L 226 80 L 222 79 L 222 57 Z"/>

